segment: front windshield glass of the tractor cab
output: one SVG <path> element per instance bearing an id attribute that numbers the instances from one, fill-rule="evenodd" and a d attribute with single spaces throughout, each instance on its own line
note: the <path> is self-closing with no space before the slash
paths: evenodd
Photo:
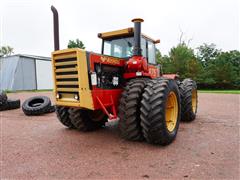
<path id="1" fill-rule="evenodd" d="M 133 53 L 133 43 L 133 37 L 104 40 L 103 54 L 119 58 L 129 58 Z"/>

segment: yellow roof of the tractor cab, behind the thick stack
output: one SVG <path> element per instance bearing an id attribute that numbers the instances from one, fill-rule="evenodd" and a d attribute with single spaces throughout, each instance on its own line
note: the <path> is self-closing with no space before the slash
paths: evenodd
<path id="1" fill-rule="evenodd" d="M 130 37 L 133 36 L 134 34 L 134 28 L 126 28 L 126 29 L 120 29 L 116 31 L 109 31 L 109 32 L 104 32 L 104 33 L 99 33 L 98 37 L 101 39 L 114 39 L 114 38 L 119 38 L 119 37 Z M 153 38 L 142 34 L 142 37 L 145 39 L 152 41 L 153 43 L 157 44 L 160 43 L 160 40 L 154 40 Z"/>

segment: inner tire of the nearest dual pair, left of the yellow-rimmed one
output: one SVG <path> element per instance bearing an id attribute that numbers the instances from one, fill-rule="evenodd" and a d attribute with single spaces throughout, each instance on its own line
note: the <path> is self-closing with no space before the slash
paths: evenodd
<path id="1" fill-rule="evenodd" d="M 120 99 L 118 108 L 120 136 L 127 140 L 143 140 L 142 128 L 140 125 L 140 107 L 142 93 L 148 79 L 130 80 Z"/>

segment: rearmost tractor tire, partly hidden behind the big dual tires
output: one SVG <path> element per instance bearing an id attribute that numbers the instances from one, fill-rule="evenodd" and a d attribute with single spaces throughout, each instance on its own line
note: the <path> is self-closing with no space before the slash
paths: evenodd
<path id="1" fill-rule="evenodd" d="M 195 120 L 197 114 L 197 84 L 192 79 L 184 79 L 180 86 L 181 94 L 181 121 L 190 122 Z"/>

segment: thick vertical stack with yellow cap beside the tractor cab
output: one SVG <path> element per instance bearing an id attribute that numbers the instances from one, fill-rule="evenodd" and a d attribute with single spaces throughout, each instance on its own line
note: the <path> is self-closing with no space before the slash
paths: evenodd
<path id="1" fill-rule="evenodd" d="M 142 49 L 141 49 L 141 23 L 143 19 L 136 18 L 133 19 L 132 22 L 134 23 L 134 47 L 133 47 L 133 56 L 141 56 Z"/>

